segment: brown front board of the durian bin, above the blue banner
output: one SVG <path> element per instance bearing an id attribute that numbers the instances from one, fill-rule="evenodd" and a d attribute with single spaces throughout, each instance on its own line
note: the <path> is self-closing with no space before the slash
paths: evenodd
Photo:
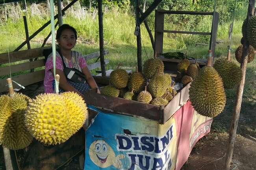
<path id="1" fill-rule="evenodd" d="M 87 105 L 109 110 L 112 113 L 136 115 L 144 118 L 160 121 L 160 107 L 138 101 L 126 100 L 122 98 L 113 98 L 96 93 L 96 89 L 91 89 L 84 95 Z"/>

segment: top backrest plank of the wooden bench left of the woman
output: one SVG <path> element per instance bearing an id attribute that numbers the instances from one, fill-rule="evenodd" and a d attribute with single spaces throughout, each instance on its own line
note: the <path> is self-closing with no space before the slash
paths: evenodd
<path id="1" fill-rule="evenodd" d="M 28 60 L 30 58 L 37 58 L 43 56 L 43 50 L 50 49 L 50 47 L 39 47 L 30 50 L 22 50 L 9 52 L 10 62 Z M 0 54 L 0 64 L 9 63 L 8 52 Z"/>

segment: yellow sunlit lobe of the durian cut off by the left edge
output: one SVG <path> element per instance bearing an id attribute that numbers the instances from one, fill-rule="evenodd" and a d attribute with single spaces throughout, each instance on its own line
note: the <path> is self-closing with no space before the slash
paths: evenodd
<path id="1" fill-rule="evenodd" d="M 3 143 L 3 131 L 6 121 L 11 116 L 10 97 L 8 95 L 0 96 L 0 145 Z"/>

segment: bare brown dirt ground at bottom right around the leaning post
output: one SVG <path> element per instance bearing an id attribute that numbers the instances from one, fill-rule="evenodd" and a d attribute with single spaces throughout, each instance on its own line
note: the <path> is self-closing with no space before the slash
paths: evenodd
<path id="1" fill-rule="evenodd" d="M 198 141 L 182 170 L 224 170 L 226 132 L 210 132 Z M 230 170 L 256 170 L 256 139 L 237 135 Z"/>

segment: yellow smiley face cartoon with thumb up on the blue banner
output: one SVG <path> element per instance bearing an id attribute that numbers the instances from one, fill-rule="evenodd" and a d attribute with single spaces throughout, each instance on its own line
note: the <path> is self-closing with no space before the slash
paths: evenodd
<path id="1" fill-rule="evenodd" d="M 113 165 L 117 169 L 122 168 L 120 159 L 124 159 L 124 155 L 115 156 L 113 149 L 104 140 L 96 140 L 89 147 L 89 156 L 93 163 L 101 168 L 107 168 Z"/>

